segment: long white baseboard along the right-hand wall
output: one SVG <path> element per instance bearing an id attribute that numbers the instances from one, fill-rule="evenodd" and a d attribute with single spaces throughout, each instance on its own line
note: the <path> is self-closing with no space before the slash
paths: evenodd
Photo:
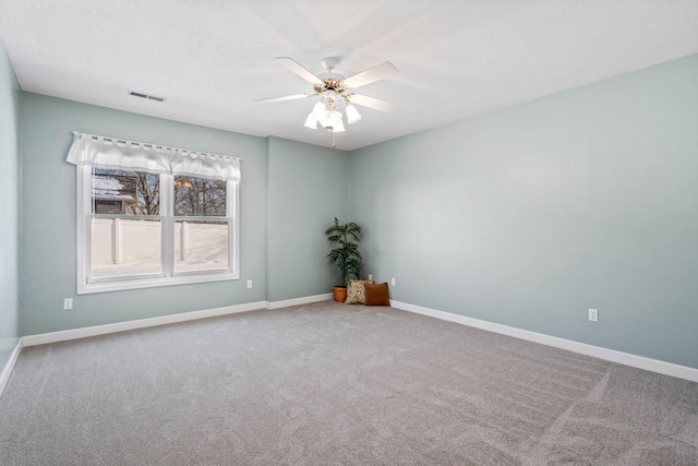
<path id="1" fill-rule="evenodd" d="M 672 362 L 650 359 L 643 356 L 630 355 L 629 353 L 616 351 L 615 349 L 602 348 L 600 346 L 587 345 L 586 343 L 574 342 L 570 339 L 558 338 L 542 333 L 530 332 L 527 330 L 516 328 L 507 325 L 495 324 L 492 322 L 481 321 L 479 319 L 467 318 L 465 315 L 453 314 L 450 312 L 436 311 L 434 309 L 422 308 L 420 306 L 408 304 L 407 302 L 390 301 L 390 307 L 402 311 L 414 312 L 417 314 L 429 315 L 444 321 L 455 322 L 462 325 L 482 328 L 503 335 L 526 339 L 533 343 L 540 343 L 555 348 L 567 349 L 569 351 L 579 353 L 581 355 L 592 356 L 594 358 L 604 359 L 606 361 L 618 362 L 638 369 L 645 369 L 678 379 L 698 382 L 698 369 L 678 366 Z"/>

